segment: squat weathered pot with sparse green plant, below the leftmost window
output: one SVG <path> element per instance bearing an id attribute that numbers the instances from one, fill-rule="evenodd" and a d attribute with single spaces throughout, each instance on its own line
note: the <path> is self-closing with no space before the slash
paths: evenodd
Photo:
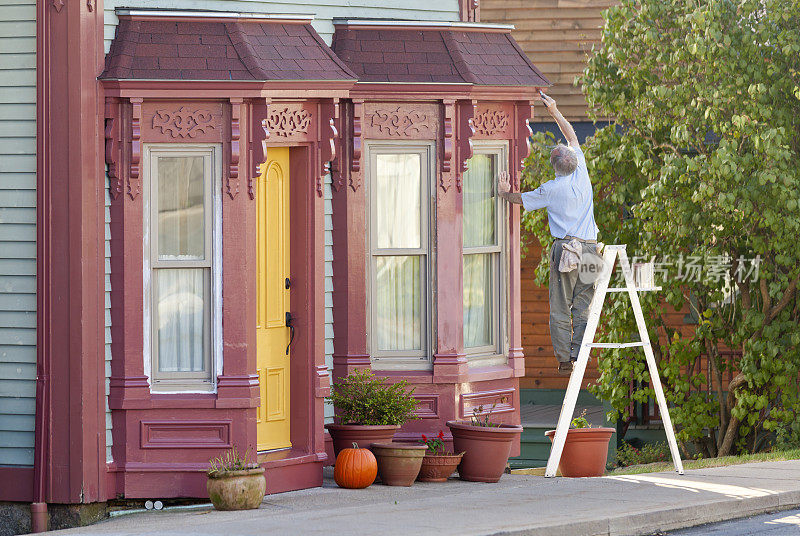
<path id="1" fill-rule="evenodd" d="M 206 489 L 217 510 L 258 508 L 267 490 L 264 468 L 249 462 L 250 449 L 240 456 L 236 448 L 209 460 Z"/>

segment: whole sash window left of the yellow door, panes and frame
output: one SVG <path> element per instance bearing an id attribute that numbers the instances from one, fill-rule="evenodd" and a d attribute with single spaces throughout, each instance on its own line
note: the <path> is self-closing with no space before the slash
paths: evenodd
<path id="1" fill-rule="evenodd" d="M 144 333 L 154 390 L 213 389 L 217 153 L 208 146 L 145 153 Z"/>

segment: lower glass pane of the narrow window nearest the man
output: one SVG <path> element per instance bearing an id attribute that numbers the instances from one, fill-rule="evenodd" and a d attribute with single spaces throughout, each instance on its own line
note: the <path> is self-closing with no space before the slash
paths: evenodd
<path id="1" fill-rule="evenodd" d="M 491 253 L 464 255 L 464 347 L 493 344 Z"/>

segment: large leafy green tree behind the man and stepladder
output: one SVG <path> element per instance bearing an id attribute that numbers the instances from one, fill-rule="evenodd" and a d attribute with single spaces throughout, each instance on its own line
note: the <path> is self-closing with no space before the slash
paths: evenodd
<path id="1" fill-rule="evenodd" d="M 642 298 L 678 439 L 706 456 L 764 448 L 769 432 L 796 442 L 800 4 L 622 0 L 604 18 L 581 80 L 594 118 L 615 118 L 584 147 L 595 214 L 600 240 L 670 265 L 660 295 Z M 552 141 L 534 141 L 525 188 L 552 175 L 541 150 Z M 549 246 L 545 214 L 523 225 Z M 543 255 L 541 283 L 547 269 Z M 693 333 L 666 325 L 662 298 L 692 309 Z M 601 329 L 636 336 L 627 296 L 606 298 Z M 599 359 L 593 389 L 627 419 L 631 397 L 653 396 L 644 356 Z"/>

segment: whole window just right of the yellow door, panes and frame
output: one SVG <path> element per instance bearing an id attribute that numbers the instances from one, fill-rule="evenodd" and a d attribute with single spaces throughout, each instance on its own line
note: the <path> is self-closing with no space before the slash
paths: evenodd
<path id="1" fill-rule="evenodd" d="M 430 360 L 433 147 L 368 147 L 371 355 L 379 366 Z"/>

